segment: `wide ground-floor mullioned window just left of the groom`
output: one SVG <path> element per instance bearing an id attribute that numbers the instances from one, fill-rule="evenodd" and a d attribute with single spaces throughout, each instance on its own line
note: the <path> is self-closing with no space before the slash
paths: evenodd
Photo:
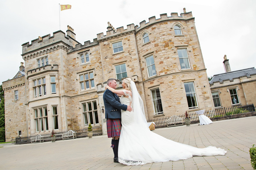
<path id="1" fill-rule="evenodd" d="M 91 101 L 82 103 L 83 105 L 83 116 L 84 116 L 84 125 L 91 123 L 92 125 L 99 124 L 97 102 Z"/>

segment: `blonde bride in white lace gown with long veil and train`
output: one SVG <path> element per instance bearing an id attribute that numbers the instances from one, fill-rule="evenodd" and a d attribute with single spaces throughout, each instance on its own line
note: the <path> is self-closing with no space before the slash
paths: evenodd
<path id="1" fill-rule="evenodd" d="M 196 148 L 166 139 L 149 130 L 145 118 L 142 98 L 130 78 L 123 80 L 125 90 L 109 90 L 116 93 L 120 102 L 132 106 L 132 111 L 121 110 L 121 134 L 118 160 L 125 165 L 143 165 L 153 162 L 167 162 L 188 159 L 192 156 L 225 155 L 224 149 L 208 146 Z"/>

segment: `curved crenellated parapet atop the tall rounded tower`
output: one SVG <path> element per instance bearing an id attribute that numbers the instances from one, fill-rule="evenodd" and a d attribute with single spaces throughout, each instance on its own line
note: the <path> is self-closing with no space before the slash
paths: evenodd
<path id="1" fill-rule="evenodd" d="M 178 16 L 178 13 L 171 13 L 171 16 L 168 17 L 167 14 L 160 14 L 160 18 L 156 19 L 155 16 L 148 18 L 148 21 L 142 21 L 140 22 L 140 27 L 138 25 L 135 26 L 135 31 L 139 32 L 148 26 L 152 26 L 154 24 L 160 23 L 160 22 L 166 22 L 166 21 L 188 21 L 194 19 L 192 16 L 192 12 L 186 12 L 186 9 L 184 8 L 184 13 L 181 13 L 181 16 Z"/>

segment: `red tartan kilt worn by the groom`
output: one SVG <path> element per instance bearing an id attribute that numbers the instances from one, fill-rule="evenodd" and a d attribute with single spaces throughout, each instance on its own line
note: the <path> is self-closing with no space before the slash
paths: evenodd
<path id="1" fill-rule="evenodd" d="M 107 119 L 107 133 L 108 138 L 120 136 L 121 133 L 121 119 Z"/>

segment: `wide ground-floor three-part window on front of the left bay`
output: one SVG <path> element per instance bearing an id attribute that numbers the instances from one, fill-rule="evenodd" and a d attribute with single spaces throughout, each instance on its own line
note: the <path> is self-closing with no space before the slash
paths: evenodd
<path id="1" fill-rule="evenodd" d="M 34 120 L 36 132 L 48 131 L 48 115 L 47 107 L 40 107 L 34 109 Z"/>

